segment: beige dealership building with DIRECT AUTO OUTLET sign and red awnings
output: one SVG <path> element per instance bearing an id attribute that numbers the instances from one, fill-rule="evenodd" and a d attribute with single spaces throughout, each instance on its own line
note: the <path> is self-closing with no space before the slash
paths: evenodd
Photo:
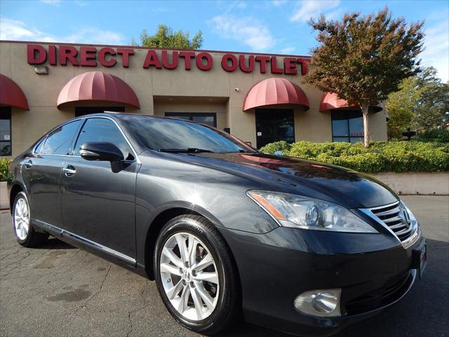
<path id="1" fill-rule="evenodd" d="M 83 114 L 114 111 L 199 121 L 254 147 L 363 139 L 357 107 L 304 84 L 310 58 L 0 41 L 0 154 L 17 156 Z M 370 107 L 371 140 L 387 114 Z"/>

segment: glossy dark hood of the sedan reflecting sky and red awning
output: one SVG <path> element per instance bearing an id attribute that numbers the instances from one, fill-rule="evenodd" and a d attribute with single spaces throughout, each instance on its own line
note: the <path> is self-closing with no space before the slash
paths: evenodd
<path id="1" fill-rule="evenodd" d="M 253 181 L 250 188 L 300 194 L 349 209 L 381 206 L 398 199 L 387 185 L 368 175 L 316 161 L 262 153 L 168 155 L 248 178 Z"/>

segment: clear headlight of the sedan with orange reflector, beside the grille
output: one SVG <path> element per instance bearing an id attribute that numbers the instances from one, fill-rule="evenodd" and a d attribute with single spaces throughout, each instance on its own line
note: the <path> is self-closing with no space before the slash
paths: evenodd
<path id="1" fill-rule="evenodd" d="M 279 192 L 248 191 L 247 194 L 282 226 L 377 233 L 377 230 L 348 209 L 327 201 Z"/>

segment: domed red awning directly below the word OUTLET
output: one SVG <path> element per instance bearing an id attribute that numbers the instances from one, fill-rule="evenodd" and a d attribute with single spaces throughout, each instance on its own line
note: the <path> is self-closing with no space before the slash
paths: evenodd
<path id="1" fill-rule="evenodd" d="M 243 111 L 276 104 L 302 105 L 305 110 L 309 109 L 309 100 L 300 86 L 287 79 L 271 78 L 250 88 L 243 102 Z"/>

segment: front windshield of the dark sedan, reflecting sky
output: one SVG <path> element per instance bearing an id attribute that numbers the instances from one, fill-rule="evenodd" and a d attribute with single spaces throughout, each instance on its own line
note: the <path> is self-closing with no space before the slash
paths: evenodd
<path id="1" fill-rule="evenodd" d="M 145 147 L 161 152 L 255 152 L 241 140 L 210 126 L 180 119 L 121 116 Z"/>

